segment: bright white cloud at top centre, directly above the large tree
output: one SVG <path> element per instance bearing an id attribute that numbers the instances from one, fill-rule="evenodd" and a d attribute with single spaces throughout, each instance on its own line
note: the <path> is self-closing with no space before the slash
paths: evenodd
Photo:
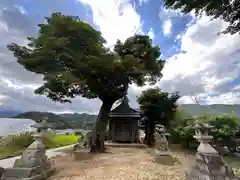
<path id="1" fill-rule="evenodd" d="M 99 26 L 107 46 L 112 47 L 135 33 L 142 33 L 140 15 L 130 0 L 79 0 L 91 7 L 93 21 Z"/>

